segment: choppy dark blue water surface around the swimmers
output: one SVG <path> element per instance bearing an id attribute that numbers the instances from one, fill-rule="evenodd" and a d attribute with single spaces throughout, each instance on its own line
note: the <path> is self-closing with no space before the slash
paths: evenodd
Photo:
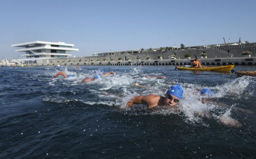
<path id="1" fill-rule="evenodd" d="M 100 68 L 115 75 L 81 83 Z M 0 158 L 256 157 L 254 77 L 174 66 L 80 66 L 63 70 L 71 78 L 52 79 L 59 70 L 0 68 Z M 124 108 L 134 95 L 164 96 L 173 83 L 184 89 L 178 110 Z M 215 94 L 200 95 L 203 88 Z"/>

